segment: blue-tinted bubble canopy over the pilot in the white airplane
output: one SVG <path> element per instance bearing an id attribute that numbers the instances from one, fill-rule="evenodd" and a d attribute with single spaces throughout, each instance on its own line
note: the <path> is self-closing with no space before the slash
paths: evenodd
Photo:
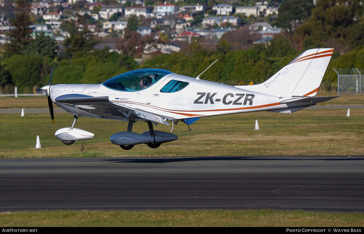
<path id="1" fill-rule="evenodd" d="M 140 69 L 115 76 L 102 84 L 110 89 L 135 92 L 148 88 L 163 76 L 171 73 L 173 72 L 161 69 Z"/>

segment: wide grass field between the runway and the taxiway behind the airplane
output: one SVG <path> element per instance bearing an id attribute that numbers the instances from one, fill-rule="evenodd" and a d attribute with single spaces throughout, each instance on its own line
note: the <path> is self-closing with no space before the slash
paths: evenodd
<path id="1" fill-rule="evenodd" d="M 269 156 L 269 155 L 361 155 L 363 154 L 364 109 L 301 110 L 292 114 L 255 112 L 202 118 L 191 125 L 179 123 L 177 141 L 157 149 L 136 145 L 122 150 L 110 142 L 110 136 L 125 131 L 127 122 L 79 118 L 76 128 L 95 134 L 95 138 L 63 145 L 54 137 L 57 129 L 70 126 L 73 116 L 55 114 L 52 124 L 48 113 L 0 115 L 0 157 L 114 157 L 114 156 Z M 258 120 L 261 130 L 253 130 Z M 170 126 L 155 130 L 169 132 Z M 145 122 L 137 122 L 133 132 L 147 131 Z M 39 135 L 43 149 L 35 147 Z M 85 146 L 80 152 L 81 145 Z"/>

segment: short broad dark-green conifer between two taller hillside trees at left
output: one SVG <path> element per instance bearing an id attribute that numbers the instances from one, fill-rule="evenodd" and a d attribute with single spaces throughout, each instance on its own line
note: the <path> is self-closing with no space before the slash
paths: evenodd
<path id="1" fill-rule="evenodd" d="M 56 40 L 49 36 L 44 35 L 41 31 L 35 39 L 31 40 L 29 47 L 24 51 L 24 55 L 41 55 L 48 57 L 55 57 L 58 45 L 56 45 Z"/>

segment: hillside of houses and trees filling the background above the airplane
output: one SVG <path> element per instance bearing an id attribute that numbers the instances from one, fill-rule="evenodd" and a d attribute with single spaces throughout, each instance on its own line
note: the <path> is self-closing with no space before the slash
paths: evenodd
<path id="1" fill-rule="evenodd" d="M 259 83 L 315 47 L 335 48 L 330 69 L 359 66 L 363 12 L 361 0 L 0 0 L 0 92 L 43 85 L 55 56 L 55 82 L 69 83 L 147 67 L 194 76 L 215 59 L 206 80 Z"/>

